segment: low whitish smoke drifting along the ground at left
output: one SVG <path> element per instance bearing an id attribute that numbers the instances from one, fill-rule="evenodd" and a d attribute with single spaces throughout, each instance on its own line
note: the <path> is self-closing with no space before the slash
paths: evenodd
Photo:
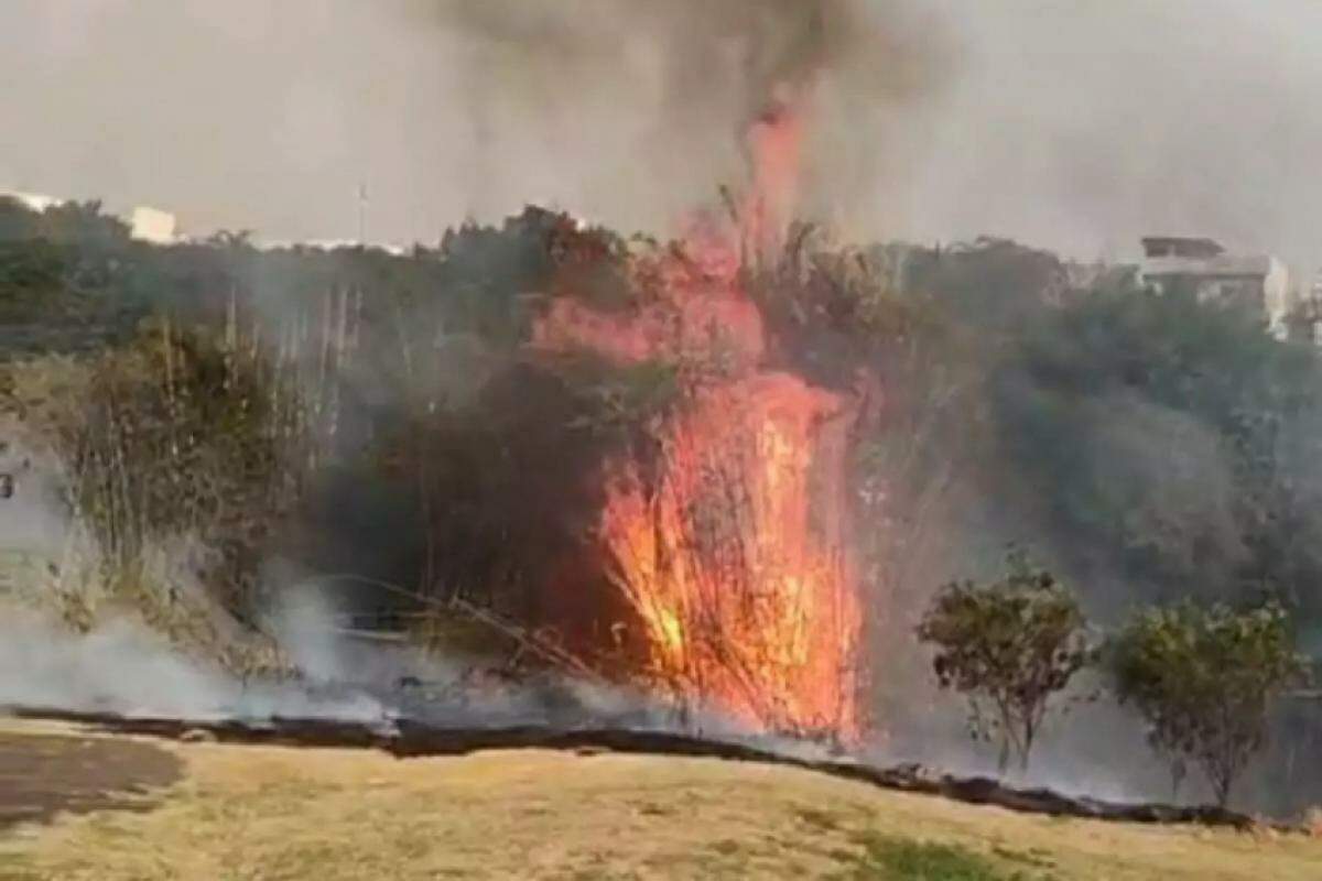
<path id="1" fill-rule="evenodd" d="M 262 573 L 262 634 L 242 629 L 197 582 L 209 552 L 188 536 L 143 555 L 143 596 L 118 596 L 59 495 L 58 464 L 7 425 L 0 473 L 15 494 L 0 509 L 0 711 L 49 708 L 189 720 L 334 719 L 387 725 L 399 715 L 438 725 L 584 722 L 673 728 L 644 695 L 547 674 L 484 687 L 480 659 L 438 656 L 418 643 L 354 634 L 324 581 L 272 560 Z M 270 645 L 264 642 L 270 639 Z M 256 641 L 256 642 L 255 642 Z M 263 649 L 296 678 L 221 654 Z M 402 683 L 414 686 L 402 688 Z M 705 717 L 703 730 L 738 726 Z"/>

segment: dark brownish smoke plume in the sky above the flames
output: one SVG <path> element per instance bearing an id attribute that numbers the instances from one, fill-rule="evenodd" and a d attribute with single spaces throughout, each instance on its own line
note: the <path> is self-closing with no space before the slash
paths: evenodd
<path id="1" fill-rule="evenodd" d="M 910 4 L 739 0 L 432 3 L 465 46 L 473 180 L 504 205 L 549 195 L 656 229 L 747 174 L 744 136 L 777 94 L 808 104 L 813 213 L 875 177 L 884 120 L 935 91 L 949 58 Z M 851 136 L 842 133 L 851 131 Z M 591 166 L 583 168 L 590 159 Z M 568 170 L 583 190 L 546 192 Z M 584 174 L 586 172 L 586 174 Z M 480 184 L 481 185 L 481 184 Z M 572 195 L 572 198 L 566 198 Z"/>

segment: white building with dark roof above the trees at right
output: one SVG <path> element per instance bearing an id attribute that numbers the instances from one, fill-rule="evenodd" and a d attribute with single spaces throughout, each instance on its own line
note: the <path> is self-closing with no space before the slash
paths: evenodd
<path id="1" fill-rule="evenodd" d="M 1142 244 L 1144 284 L 1162 292 L 1183 285 L 1199 301 L 1247 306 L 1274 335 L 1286 335 L 1293 305 L 1290 273 L 1277 258 L 1227 254 L 1218 242 L 1199 238 L 1149 236 Z"/>

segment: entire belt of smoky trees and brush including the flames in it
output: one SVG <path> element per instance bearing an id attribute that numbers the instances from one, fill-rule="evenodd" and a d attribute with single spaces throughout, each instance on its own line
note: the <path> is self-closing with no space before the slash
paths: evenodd
<path id="1" fill-rule="evenodd" d="M 529 207 L 408 255 L 167 248 L 94 203 L 0 201 L 17 329 L 0 409 L 42 472 L 0 461 L 0 495 L 59 527 L 0 593 L 89 634 L 135 609 L 251 697 L 292 672 L 338 687 L 385 654 L 317 674 L 263 617 L 349 573 L 362 590 L 328 600 L 352 618 L 329 638 L 374 631 L 465 667 L 436 688 L 383 676 L 414 717 L 459 692 L 465 721 L 525 720 L 492 708 L 553 683 L 539 712 L 578 701 L 542 713 L 557 724 L 657 724 L 661 705 L 689 732 L 719 717 L 873 745 L 882 719 L 896 754 L 923 757 L 965 733 L 915 684 L 914 626 L 1002 540 L 1043 547 L 1099 619 L 1198 584 L 1274 593 L 1302 641 L 1322 617 L 1301 589 L 1318 543 L 1298 538 L 1322 528 L 1315 351 L 1122 268 L 1080 287 L 1010 242 L 837 247 L 791 222 L 802 100 L 752 122 L 747 193 L 669 243 Z M 1055 643 L 997 638 L 988 676 L 980 639 L 1036 638 L 970 590 L 943 650 L 972 672 L 945 684 L 1018 695 L 1021 662 Z M 1038 667 L 1034 693 L 1071 684 Z M 562 700 L 584 680 L 639 687 L 645 708 Z M 1256 750 L 1277 692 L 1249 686 Z M 1046 703 L 1025 705 L 1027 753 Z M 1300 707 L 1273 722 L 1293 732 L 1273 766 L 1288 779 L 1322 756 Z"/>

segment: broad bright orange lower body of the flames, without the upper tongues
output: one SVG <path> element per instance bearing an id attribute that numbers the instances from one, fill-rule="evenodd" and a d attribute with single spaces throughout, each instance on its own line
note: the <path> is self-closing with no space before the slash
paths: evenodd
<path id="1" fill-rule="evenodd" d="M 858 609 L 810 522 L 814 465 L 838 465 L 814 462 L 817 437 L 839 412 L 795 376 L 751 375 L 697 392 L 658 478 L 611 464 L 600 539 L 677 699 L 773 730 L 855 730 Z"/>

